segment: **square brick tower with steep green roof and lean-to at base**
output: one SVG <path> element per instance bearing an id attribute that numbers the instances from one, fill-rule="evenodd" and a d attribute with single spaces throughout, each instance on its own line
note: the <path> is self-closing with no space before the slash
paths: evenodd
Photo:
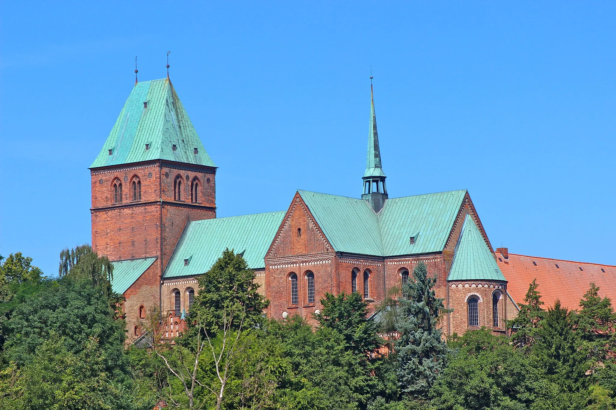
<path id="1" fill-rule="evenodd" d="M 92 248 L 125 261 L 114 271 L 126 278 L 130 334 L 160 309 L 161 274 L 187 222 L 216 218 L 216 165 L 166 78 L 135 84 L 90 171 Z"/>

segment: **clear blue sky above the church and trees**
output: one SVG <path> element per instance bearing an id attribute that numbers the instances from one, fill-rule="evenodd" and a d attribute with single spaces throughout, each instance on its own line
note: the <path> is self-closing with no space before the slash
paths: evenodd
<path id="1" fill-rule="evenodd" d="M 219 216 L 358 197 L 370 68 L 390 197 L 468 189 L 492 244 L 616 264 L 614 2 L 2 2 L 0 254 L 90 242 L 87 167 L 170 73 Z"/>

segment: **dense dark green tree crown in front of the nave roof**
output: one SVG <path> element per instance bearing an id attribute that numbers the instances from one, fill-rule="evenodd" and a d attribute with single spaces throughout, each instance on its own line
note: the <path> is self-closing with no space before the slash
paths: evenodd
<path id="1" fill-rule="evenodd" d="M 261 323 L 269 301 L 257 292 L 254 272 L 240 254 L 226 249 L 214 266 L 199 278 L 199 294 L 190 308 L 191 316 L 199 317 L 209 333 L 224 327 L 233 315 L 231 328 L 238 329 Z"/>

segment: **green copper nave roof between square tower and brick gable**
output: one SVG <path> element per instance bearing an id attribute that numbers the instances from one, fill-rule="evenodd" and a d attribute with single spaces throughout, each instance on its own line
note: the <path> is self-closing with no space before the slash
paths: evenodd
<path id="1" fill-rule="evenodd" d="M 188 223 L 163 277 L 203 274 L 225 248 L 243 253 L 249 268 L 264 268 L 265 253 L 284 216 L 285 211 L 278 211 Z"/>

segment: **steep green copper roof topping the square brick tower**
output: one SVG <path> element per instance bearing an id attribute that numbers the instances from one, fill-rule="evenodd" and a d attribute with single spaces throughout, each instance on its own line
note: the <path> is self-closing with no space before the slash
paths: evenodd
<path id="1" fill-rule="evenodd" d="M 169 79 L 142 81 L 134 86 L 90 168 L 153 159 L 216 166 Z"/>

